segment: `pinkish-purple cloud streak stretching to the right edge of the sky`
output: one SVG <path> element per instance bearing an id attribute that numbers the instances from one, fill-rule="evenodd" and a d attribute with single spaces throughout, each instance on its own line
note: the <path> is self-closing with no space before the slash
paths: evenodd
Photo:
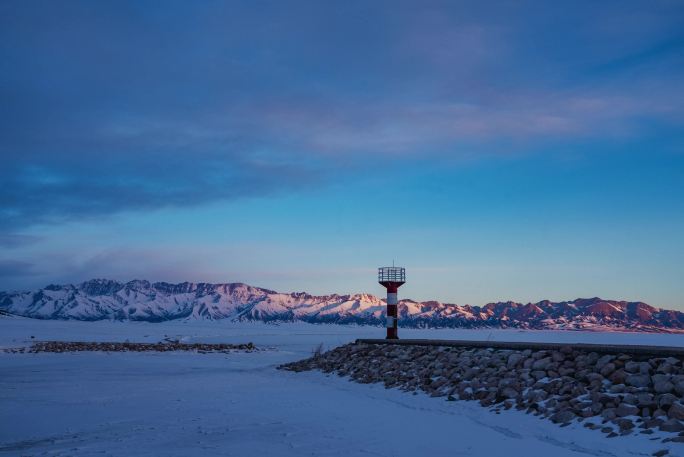
<path id="1" fill-rule="evenodd" d="M 654 101 L 595 93 L 529 93 L 489 104 L 342 102 L 327 105 L 335 106 L 330 111 L 291 104 L 272 107 L 264 118 L 274 136 L 293 138 L 293 142 L 319 153 L 415 155 L 445 146 L 502 139 L 630 137 L 641 133 L 638 119 L 679 117 L 682 113 L 674 108 L 676 103 L 672 96 Z"/>

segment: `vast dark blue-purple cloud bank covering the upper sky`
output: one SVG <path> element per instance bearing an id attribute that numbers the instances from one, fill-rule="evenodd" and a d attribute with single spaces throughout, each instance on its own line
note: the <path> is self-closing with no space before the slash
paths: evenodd
<path id="1" fill-rule="evenodd" d="M 5 2 L 0 231 L 681 126 L 681 8 L 632 6 Z"/>

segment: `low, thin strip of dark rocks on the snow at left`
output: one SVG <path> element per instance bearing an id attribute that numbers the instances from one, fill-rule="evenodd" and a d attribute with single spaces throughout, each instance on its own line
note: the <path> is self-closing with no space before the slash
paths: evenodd
<path id="1" fill-rule="evenodd" d="M 165 341 L 162 343 L 98 343 L 81 341 L 40 341 L 29 348 L 7 349 L 5 352 L 169 352 L 169 351 L 196 351 L 196 352 L 231 352 L 231 351 L 254 351 L 256 347 L 252 343 L 245 344 L 209 344 L 209 343 L 180 343 L 178 341 Z"/>

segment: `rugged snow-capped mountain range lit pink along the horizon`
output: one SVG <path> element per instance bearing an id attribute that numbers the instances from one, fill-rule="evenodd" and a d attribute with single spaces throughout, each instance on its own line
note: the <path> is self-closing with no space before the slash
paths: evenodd
<path id="1" fill-rule="evenodd" d="M 94 279 L 79 285 L 50 285 L 34 292 L 0 292 L 0 314 L 2 311 L 38 319 L 159 322 L 195 318 L 377 325 L 384 321 L 385 302 L 369 294 L 287 294 L 241 283 Z M 684 331 L 682 312 L 600 298 L 484 306 L 402 300 L 399 313 L 405 327 Z"/>

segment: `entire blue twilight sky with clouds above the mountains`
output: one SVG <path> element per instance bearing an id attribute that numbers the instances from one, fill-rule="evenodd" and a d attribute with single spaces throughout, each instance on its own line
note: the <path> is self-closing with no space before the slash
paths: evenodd
<path id="1" fill-rule="evenodd" d="M 681 1 L 0 1 L 0 290 L 684 310 Z"/>

